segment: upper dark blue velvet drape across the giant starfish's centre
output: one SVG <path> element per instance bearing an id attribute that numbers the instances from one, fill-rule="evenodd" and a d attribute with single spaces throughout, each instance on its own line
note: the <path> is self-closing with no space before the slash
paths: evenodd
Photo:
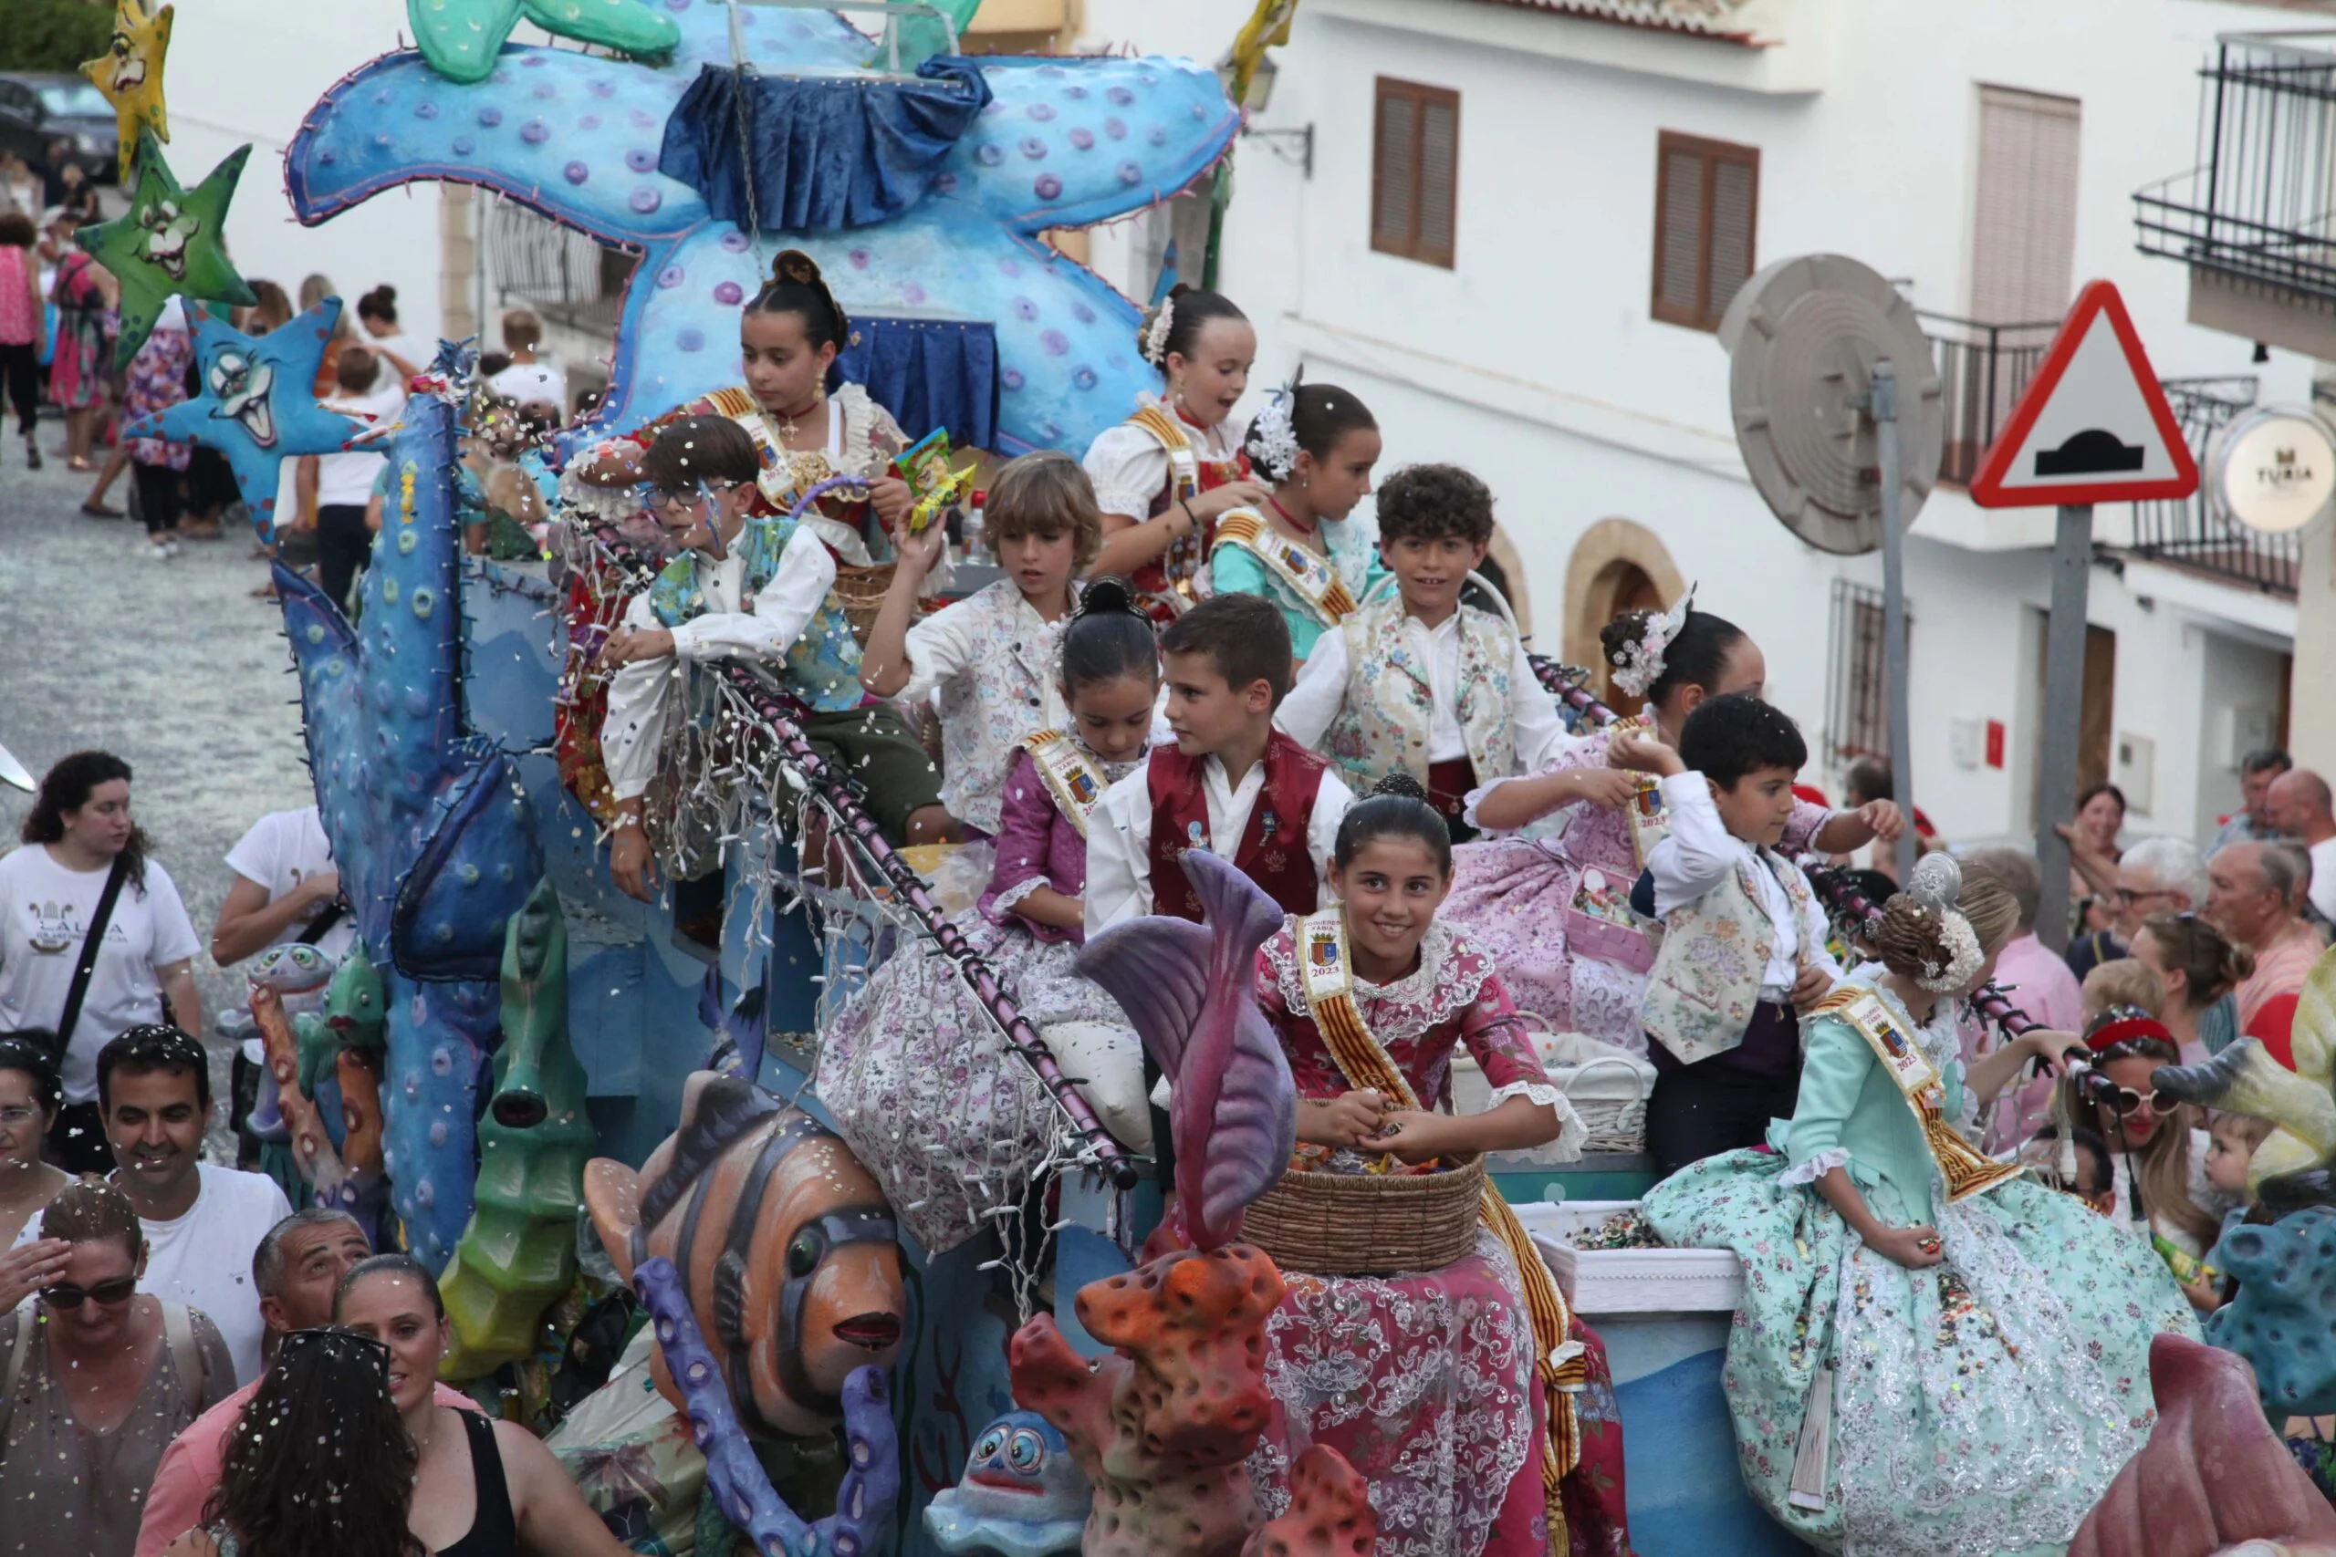
<path id="1" fill-rule="evenodd" d="M 722 222 L 764 231 L 834 231 L 890 222 L 990 100 L 969 58 L 944 54 L 920 82 L 773 77 L 703 65 L 666 119 L 659 170 L 701 196 Z M 741 166 L 741 86 L 752 170 Z M 755 208 L 748 212 L 748 177 Z"/>

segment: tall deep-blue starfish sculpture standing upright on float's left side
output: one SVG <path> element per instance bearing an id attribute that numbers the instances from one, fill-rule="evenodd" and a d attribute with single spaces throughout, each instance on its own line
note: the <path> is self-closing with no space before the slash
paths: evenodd
<path id="1" fill-rule="evenodd" d="M 460 373 L 446 357 L 439 371 Z M 505 924 L 542 875 L 512 761 L 463 721 L 453 404 L 413 395 L 350 628 L 276 567 L 308 768 L 357 931 L 378 957 L 383 1165 L 406 1244 L 432 1270 L 472 1207 L 472 1118 L 495 1046 Z"/>

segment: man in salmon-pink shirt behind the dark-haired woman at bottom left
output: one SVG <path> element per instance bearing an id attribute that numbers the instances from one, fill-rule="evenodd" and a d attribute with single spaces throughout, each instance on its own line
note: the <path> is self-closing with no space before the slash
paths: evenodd
<path id="1" fill-rule="evenodd" d="M 332 1324 L 332 1293 L 350 1265 L 374 1247 L 364 1228 L 341 1212 L 292 1212 L 259 1240 L 252 1251 L 252 1289 L 259 1291 L 259 1314 L 266 1319 L 266 1349 L 292 1331 Z M 203 1503 L 220 1485 L 227 1464 L 227 1436 L 243 1419 L 243 1408 L 259 1389 L 252 1380 L 227 1396 L 164 1450 L 154 1468 L 145 1517 L 138 1524 L 135 1557 L 161 1557 L 161 1550 L 203 1522 Z M 439 1405 L 479 1410 L 470 1396 L 437 1387 Z"/>

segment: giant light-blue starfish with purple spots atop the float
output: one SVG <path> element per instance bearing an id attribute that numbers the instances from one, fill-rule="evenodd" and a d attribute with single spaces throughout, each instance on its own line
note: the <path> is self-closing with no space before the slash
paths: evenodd
<path id="1" fill-rule="evenodd" d="M 738 308 L 778 247 L 811 252 L 853 315 L 993 320 L 1007 453 L 1084 448 L 1159 387 L 1135 350 L 1135 306 L 1037 233 L 1145 210 L 1215 163 L 1240 126 L 1215 75 L 1159 58 L 983 58 L 993 100 L 920 203 L 876 226 L 757 236 L 659 173 L 673 105 L 703 65 L 731 63 L 729 7 L 666 7 L 680 44 L 656 68 L 516 44 L 477 86 L 411 51 L 362 65 L 285 152 L 294 212 L 327 222 L 383 189 L 451 180 L 638 250 L 605 427 L 741 380 Z M 741 7 L 738 23 L 764 75 L 853 75 L 869 56 L 827 12 Z"/>

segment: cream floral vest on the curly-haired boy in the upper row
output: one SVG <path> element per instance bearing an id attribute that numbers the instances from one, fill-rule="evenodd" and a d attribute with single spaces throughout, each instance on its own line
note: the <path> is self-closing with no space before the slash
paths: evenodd
<path id="1" fill-rule="evenodd" d="M 1404 770 L 1427 782 L 1427 731 L 1434 719 L 1430 668 L 1404 637 L 1404 600 L 1374 600 L 1339 623 L 1346 635 L 1346 703 L 1322 745 L 1355 775 L 1357 794 L 1381 777 Z M 1509 670 L 1516 635 L 1493 612 L 1460 607 L 1460 735 L 1476 782 L 1514 777 L 1516 731 L 1511 728 Z"/>

